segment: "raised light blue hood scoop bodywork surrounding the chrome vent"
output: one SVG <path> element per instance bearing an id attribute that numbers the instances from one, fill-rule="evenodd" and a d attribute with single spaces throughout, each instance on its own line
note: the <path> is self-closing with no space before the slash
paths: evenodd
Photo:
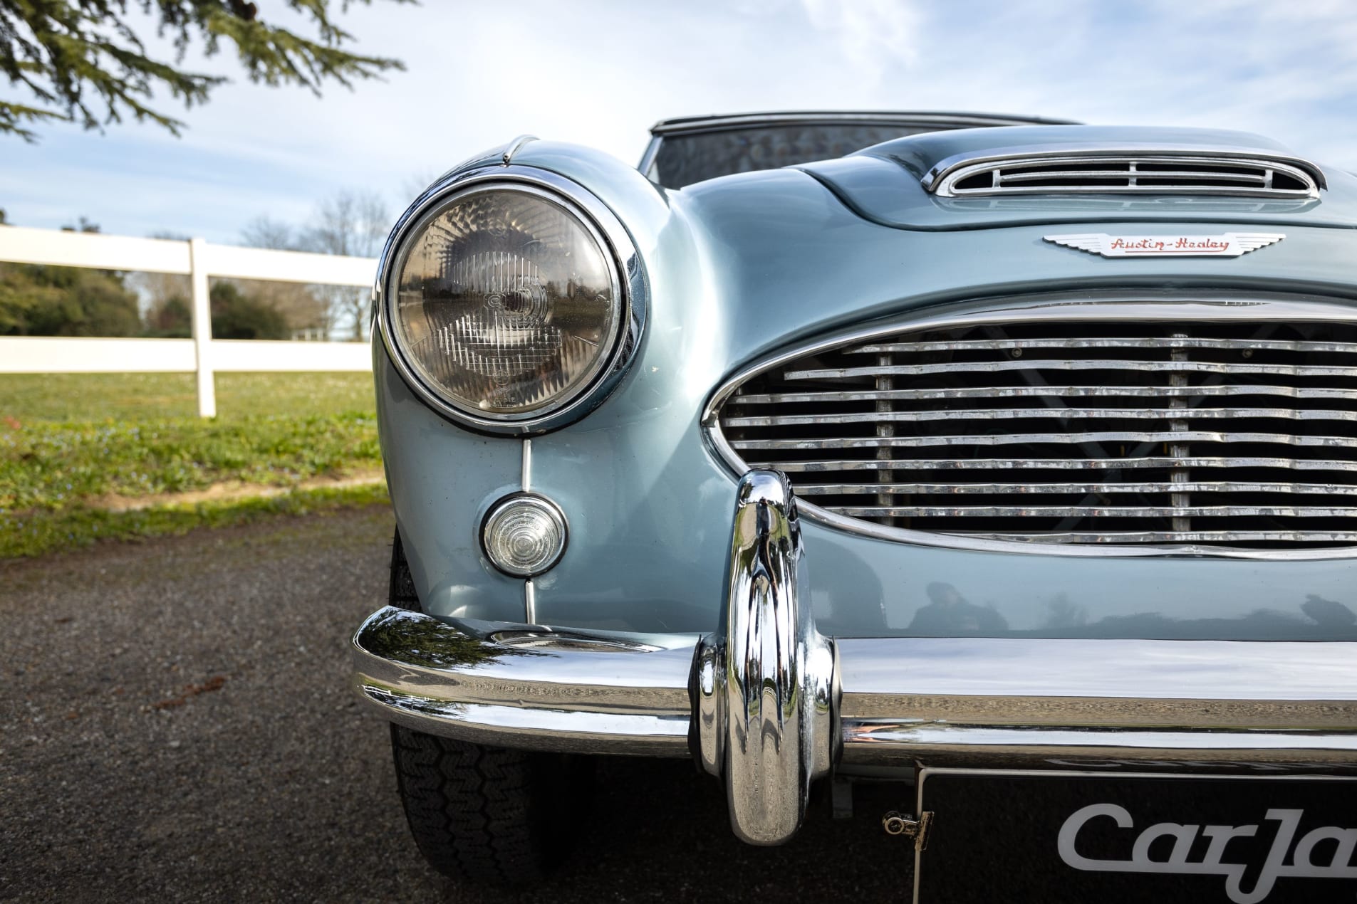
<path id="1" fill-rule="evenodd" d="M 1077 153 L 1109 146 L 1132 153 L 1175 149 L 1197 155 L 1299 160 L 1284 145 L 1244 131 L 1140 126 L 1010 126 L 911 136 L 874 145 L 848 157 L 798 168 L 818 179 L 859 215 L 900 229 L 976 229 L 1102 222 L 1110 218 L 1357 228 L 1357 178 L 1337 167 L 1318 167 L 1324 184 L 1319 198 L 1106 192 L 943 198 L 924 188 L 931 173 L 957 157 L 1037 149 Z"/>

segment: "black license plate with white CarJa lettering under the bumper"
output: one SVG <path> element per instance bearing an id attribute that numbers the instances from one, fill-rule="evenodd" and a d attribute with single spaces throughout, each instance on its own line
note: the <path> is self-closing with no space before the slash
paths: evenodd
<path id="1" fill-rule="evenodd" d="M 923 770 L 917 904 L 1357 901 L 1357 779 Z"/>

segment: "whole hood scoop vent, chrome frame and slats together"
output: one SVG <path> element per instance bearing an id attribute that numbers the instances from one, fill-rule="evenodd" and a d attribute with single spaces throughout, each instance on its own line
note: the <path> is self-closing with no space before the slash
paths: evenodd
<path id="1" fill-rule="evenodd" d="M 939 198 L 1140 194 L 1295 201 L 1318 198 L 1326 182 L 1319 167 L 1286 155 L 1056 146 L 957 155 L 932 167 L 923 187 Z"/>

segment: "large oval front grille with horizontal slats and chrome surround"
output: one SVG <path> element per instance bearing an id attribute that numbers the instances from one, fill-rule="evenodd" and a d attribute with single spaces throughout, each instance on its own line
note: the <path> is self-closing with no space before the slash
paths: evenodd
<path id="1" fill-rule="evenodd" d="M 807 519 L 897 542 L 1357 556 L 1350 301 L 970 302 L 759 362 L 703 426 L 731 472 L 784 470 Z"/>

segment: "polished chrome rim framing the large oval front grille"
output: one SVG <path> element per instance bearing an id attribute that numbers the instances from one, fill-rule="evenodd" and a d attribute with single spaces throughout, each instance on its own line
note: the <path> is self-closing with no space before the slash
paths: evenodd
<path id="1" fill-rule="evenodd" d="M 1259 321 L 1276 320 L 1307 321 L 1307 323 L 1350 323 L 1357 320 L 1357 308 L 1353 301 L 1338 298 L 1322 298 L 1315 295 L 1288 295 L 1288 294 L 1224 294 L 1224 293 L 1103 293 L 1096 295 L 1068 295 L 1045 294 L 1030 297 L 999 297 L 980 298 L 968 302 L 938 308 L 928 313 L 911 313 L 889 321 L 878 321 L 868 327 L 854 327 L 825 337 L 798 343 L 792 347 L 773 352 L 767 358 L 754 361 L 727 377 L 707 400 L 702 413 L 703 434 L 712 453 L 723 461 L 733 474 L 744 474 L 750 465 L 737 453 L 734 446 L 721 431 L 719 412 L 726 400 L 752 377 L 780 367 L 798 358 L 813 355 L 829 348 L 839 348 L 849 344 L 864 344 L 882 336 L 901 331 L 924 331 L 953 327 L 974 327 L 985 324 L 1011 324 L 1023 321 L 1071 321 L 1071 323 L 1098 323 L 1107 320 L 1141 320 L 1141 321 Z M 892 390 L 900 392 L 900 390 Z M 867 440 L 889 442 L 889 440 Z M 1144 459 L 1149 461 L 1149 459 Z M 1205 461 L 1210 461 L 1209 458 Z M 1232 461 L 1225 458 L 1215 459 Z M 1278 459 L 1286 461 L 1286 459 Z M 874 469 L 881 468 L 881 462 L 868 462 Z M 987 465 L 991 462 L 987 462 Z M 1324 462 L 1330 465 L 1330 462 Z M 1077 462 L 1067 462 L 1060 468 L 1087 466 Z M 1125 466 L 1125 462 L 1120 462 Z M 1318 465 L 1318 462 L 1316 462 Z M 1333 462 L 1330 470 L 1349 470 L 1354 465 L 1349 462 Z M 908 466 L 904 462 L 901 466 Z M 962 466 L 962 465 L 957 465 Z M 1096 468 L 1098 465 L 1091 465 Z M 1141 464 L 1140 466 L 1151 466 Z M 1296 465 L 1300 468 L 1300 465 Z M 1308 462 L 1307 462 L 1307 469 Z M 1318 468 L 1316 468 L 1318 469 Z M 788 470 L 794 470 L 788 465 Z M 807 469 L 809 470 L 809 469 Z M 1248 558 L 1248 560 L 1323 560 L 1323 558 L 1357 558 L 1357 548 L 1352 549 L 1228 549 L 1220 546 L 1205 546 L 1193 542 L 1175 543 L 1171 546 L 1130 546 L 1115 543 L 1101 543 L 1096 546 L 1061 546 L 1056 543 L 1041 545 L 1033 542 L 1018 542 L 1011 539 L 989 539 L 984 537 L 963 537 L 954 534 L 932 534 L 905 527 L 890 527 L 875 525 L 855 518 L 837 515 L 798 500 L 799 512 L 811 522 L 841 530 L 851 534 L 885 539 L 892 542 L 912 543 L 916 546 L 934 546 L 944 549 L 973 549 L 995 553 L 1046 554 L 1046 556 L 1118 556 L 1118 557 L 1217 557 L 1217 558 Z"/>

